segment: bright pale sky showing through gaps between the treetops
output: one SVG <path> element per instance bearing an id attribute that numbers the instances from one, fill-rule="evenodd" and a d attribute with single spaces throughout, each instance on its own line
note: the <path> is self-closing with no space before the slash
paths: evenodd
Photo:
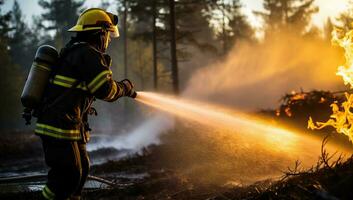
<path id="1" fill-rule="evenodd" d="M 4 10 L 11 9 L 14 0 L 5 0 Z M 348 9 L 350 0 L 315 0 L 315 5 L 319 7 L 319 12 L 313 16 L 313 24 L 322 28 L 328 17 L 333 20 L 338 14 Z M 31 23 L 33 15 L 38 15 L 42 9 L 37 4 L 37 0 L 18 0 L 28 23 Z M 86 0 L 86 7 L 99 5 L 99 0 Z M 261 27 L 261 20 L 253 14 L 253 11 L 262 10 L 262 0 L 241 0 L 244 5 L 243 12 L 248 16 L 249 21 L 254 27 Z M 110 11 L 114 8 L 108 9 Z"/>

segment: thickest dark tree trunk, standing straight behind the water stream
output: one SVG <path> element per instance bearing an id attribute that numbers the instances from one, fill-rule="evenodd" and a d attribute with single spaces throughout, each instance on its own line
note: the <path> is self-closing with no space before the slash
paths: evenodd
<path id="1" fill-rule="evenodd" d="M 169 0 L 169 13 L 170 13 L 170 57 L 172 64 L 172 82 L 173 91 L 179 94 L 179 77 L 178 77 L 178 61 L 176 55 L 176 36 L 175 36 L 175 2 Z"/>

